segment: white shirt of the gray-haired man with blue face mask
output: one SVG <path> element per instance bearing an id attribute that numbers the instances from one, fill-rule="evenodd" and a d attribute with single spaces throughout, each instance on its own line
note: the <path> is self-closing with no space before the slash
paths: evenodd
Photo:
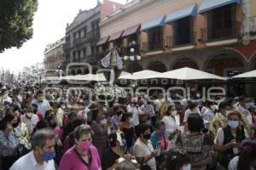
<path id="1" fill-rule="evenodd" d="M 20 159 L 15 161 L 9 170 L 55 170 L 55 161 L 44 161 L 43 165 L 38 164 L 32 150 L 25 156 L 22 156 Z"/>

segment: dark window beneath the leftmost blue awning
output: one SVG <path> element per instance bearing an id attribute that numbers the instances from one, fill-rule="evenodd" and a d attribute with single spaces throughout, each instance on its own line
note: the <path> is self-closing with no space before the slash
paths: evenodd
<path id="1" fill-rule="evenodd" d="M 148 49 L 156 50 L 163 48 L 163 27 L 155 27 L 148 31 Z"/>

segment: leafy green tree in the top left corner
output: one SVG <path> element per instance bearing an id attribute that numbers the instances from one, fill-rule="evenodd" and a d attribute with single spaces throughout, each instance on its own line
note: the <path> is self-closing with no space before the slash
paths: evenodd
<path id="1" fill-rule="evenodd" d="M 0 53 L 32 38 L 38 0 L 0 0 Z"/>

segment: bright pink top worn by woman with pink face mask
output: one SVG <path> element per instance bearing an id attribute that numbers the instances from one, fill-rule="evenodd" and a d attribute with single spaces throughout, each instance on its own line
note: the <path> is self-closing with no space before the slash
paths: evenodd
<path id="1" fill-rule="evenodd" d="M 67 150 L 67 152 L 62 156 L 60 163 L 60 170 L 100 170 L 102 169 L 100 157 L 98 150 L 95 146 L 90 147 L 91 153 L 91 164 L 90 168 L 84 165 L 80 160 L 79 156 L 75 153 L 75 146 Z"/>

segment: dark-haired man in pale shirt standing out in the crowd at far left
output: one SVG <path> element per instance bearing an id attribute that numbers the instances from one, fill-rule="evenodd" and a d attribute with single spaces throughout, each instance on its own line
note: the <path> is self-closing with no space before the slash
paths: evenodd
<path id="1" fill-rule="evenodd" d="M 44 93 L 41 90 L 38 90 L 36 99 L 32 102 L 32 104 L 38 105 L 38 112 L 40 112 L 44 118 L 45 112 L 49 110 L 50 105 L 49 102 L 44 99 Z"/>

